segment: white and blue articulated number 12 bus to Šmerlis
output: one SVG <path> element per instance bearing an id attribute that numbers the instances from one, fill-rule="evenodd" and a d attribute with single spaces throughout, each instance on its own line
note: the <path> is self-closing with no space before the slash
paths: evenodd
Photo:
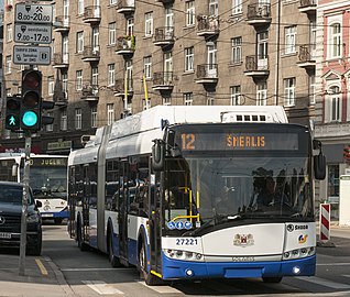
<path id="1" fill-rule="evenodd" d="M 149 285 L 314 275 L 320 148 L 282 107 L 151 108 L 70 153 L 70 235 Z"/>

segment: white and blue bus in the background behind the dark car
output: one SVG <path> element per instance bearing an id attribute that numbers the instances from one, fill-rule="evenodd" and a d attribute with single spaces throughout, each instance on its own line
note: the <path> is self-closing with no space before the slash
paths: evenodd
<path id="1" fill-rule="evenodd" d="M 30 186 L 42 219 L 61 223 L 68 218 L 67 161 L 65 155 L 31 154 Z M 0 180 L 23 182 L 24 153 L 0 154 Z"/>

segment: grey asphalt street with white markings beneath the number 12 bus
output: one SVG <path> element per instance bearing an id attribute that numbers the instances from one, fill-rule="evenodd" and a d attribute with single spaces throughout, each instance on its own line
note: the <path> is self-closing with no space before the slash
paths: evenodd
<path id="1" fill-rule="evenodd" d="M 332 227 L 330 234 L 336 248 L 317 248 L 316 276 L 285 277 L 281 284 L 256 278 L 149 287 L 135 267 L 112 268 L 107 255 L 80 252 L 64 223 L 44 226 L 43 257 L 58 267 L 68 296 L 350 296 L 350 228 Z"/>

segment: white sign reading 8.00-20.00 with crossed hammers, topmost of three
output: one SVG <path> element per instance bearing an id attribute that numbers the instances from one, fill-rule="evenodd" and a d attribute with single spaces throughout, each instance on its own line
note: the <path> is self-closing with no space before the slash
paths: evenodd
<path id="1" fill-rule="evenodd" d="M 53 6 L 17 3 L 14 22 L 51 24 L 53 22 Z"/>

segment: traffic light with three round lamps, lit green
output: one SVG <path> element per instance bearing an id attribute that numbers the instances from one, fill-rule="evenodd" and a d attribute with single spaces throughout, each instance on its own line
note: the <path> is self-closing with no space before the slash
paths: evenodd
<path id="1" fill-rule="evenodd" d="M 20 125 L 24 131 L 41 130 L 42 73 L 34 69 L 22 72 L 22 100 Z"/>

